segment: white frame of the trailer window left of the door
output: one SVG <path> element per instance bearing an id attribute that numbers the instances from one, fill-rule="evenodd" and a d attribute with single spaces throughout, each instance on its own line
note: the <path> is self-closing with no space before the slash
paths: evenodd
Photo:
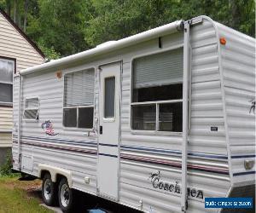
<path id="1" fill-rule="evenodd" d="M 88 71 L 90 69 L 93 69 L 94 71 L 94 94 L 93 94 L 93 104 L 92 105 L 79 105 L 79 106 L 73 106 L 73 107 L 65 107 L 64 103 L 65 103 L 65 76 L 67 74 L 70 73 L 74 73 L 74 72 L 83 72 L 83 71 Z M 79 68 L 75 68 L 73 70 L 67 71 L 64 73 L 63 75 L 63 79 L 62 79 L 62 85 L 63 85 L 63 92 L 62 92 L 62 129 L 63 130 L 67 130 L 67 131 L 92 131 L 95 129 L 95 110 L 96 110 L 96 104 L 95 104 L 95 90 L 96 90 L 96 66 L 86 66 L 86 67 L 79 67 Z M 92 122 L 92 128 L 88 129 L 88 128 L 79 128 L 78 124 L 79 124 L 79 108 L 86 108 L 86 107 L 92 107 L 93 108 L 93 122 Z M 76 127 L 67 127 L 64 125 L 64 116 L 63 116 L 63 112 L 64 109 L 67 108 L 77 108 L 77 126 Z"/>

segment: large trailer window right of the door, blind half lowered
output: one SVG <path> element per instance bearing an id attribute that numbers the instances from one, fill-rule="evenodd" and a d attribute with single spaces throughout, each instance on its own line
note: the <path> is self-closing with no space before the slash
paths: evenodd
<path id="1" fill-rule="evenodd" d="M 133 61 L 132 130 L 182 132 L 183 48 Z"/>

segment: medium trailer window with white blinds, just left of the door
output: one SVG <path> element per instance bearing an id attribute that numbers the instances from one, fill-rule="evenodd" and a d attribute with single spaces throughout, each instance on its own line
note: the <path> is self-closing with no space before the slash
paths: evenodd
<path id="1" fill-rule="evenodd" d="M 94 69 L 65 75 L 63 107 L 63 125 L 65 127 L 92 129 L 94 89 Z"/>

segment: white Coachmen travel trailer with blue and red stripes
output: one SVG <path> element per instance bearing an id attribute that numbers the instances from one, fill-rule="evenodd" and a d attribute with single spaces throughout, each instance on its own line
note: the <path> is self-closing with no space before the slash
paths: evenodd
<path id="1" fill-rule="evenodd" d="M 13 168 L 46 204 L 73 190 L 144 212 L 252 197 L 255 39 L 207 16 L 15 76 Z"/>

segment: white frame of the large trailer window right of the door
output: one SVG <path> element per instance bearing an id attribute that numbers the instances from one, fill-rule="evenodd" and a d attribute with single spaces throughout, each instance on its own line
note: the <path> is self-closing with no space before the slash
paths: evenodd
<path id="1" fill-rule="evenodd" d="M 162 104 L 162 103 L 179 103 L 179 102 L 183 103 L 183 97 L 181 99 L 176 99 L 176 100 L 133 102 L 134 60 L 137 60 L 138 58 L 141 58 L 141 57 L 161 54 L 161 53 L 172 51 L 172 50 L 179 49 L 179 48 L 183 48 L 183 43 L 173 45 L 170 48 L 151 51 L 147 54 L 135 55 L 134 57 L 131 58 L 131 77 L 130 77 L 130 82 L 131 82 L 131 87 L 130 87 L 131 90 L 130 91 L 131 91 L 131 94 L 130 94 L 130 119 L 129 119 L 131 134 L 134 134 L 134 135 L 183 135 L 183 130 L 181 132 L 160 131 L 160 130 L 158 130 L 158 128 L 159 128 L 159 105 Z M 183 84 L 183 80 L 178 81 L 176 83 L 182 83 Z M 171 83 L 171 84 L 176 84 L 176 83 Z M 134 130 L 134 129 L 132 129 L 132 119 L 133 119 L 132 106 L 147 105 L 147 104 L 155 104 L 155 107 L 156 107 L 155 130 Z"/>

